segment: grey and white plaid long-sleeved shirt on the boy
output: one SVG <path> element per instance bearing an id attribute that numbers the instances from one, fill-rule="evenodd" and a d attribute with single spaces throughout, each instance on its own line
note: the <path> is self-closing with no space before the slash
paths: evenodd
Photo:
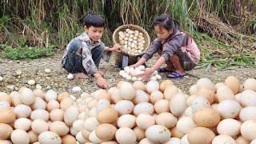
<path id="1" fill-rule="evenodd" d="M 82 33 L 80 36 L 73 38 L 70 42 L 74 40 L 79 40 L 82 42 L 82 66 L 85 68 L 86 73 L 89 75 L 93 75 L 97 72 L 98 68 L 94 64 L 94 60 L 92 58 L 91 50 L 93 50 L 95 47 L 104 45 L 100 40 L 98 42 L 93 42 L 90 40 L 89 36 L 86 34 L 86 32 Z M 67 51 L 70 49 L 70 42 L 66 46 L 66 54 Z M 103 51 L 102 58 L 104 61 L 108 62 L 110 60 L 110 51 L 106 51 L 108 47 L 105 47 L 105 50 Z M 64 66 L 66 62 L 66 54 L 64 54 L 62 58 L 62 66 Z"/>

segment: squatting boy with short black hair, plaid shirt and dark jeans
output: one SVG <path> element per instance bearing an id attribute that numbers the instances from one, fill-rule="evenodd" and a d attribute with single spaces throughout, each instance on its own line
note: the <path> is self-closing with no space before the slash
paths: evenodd
<path id="1" fill-rule="evenodd" d="M 84 21 L 85 32 L 72 39 L 66 46 L 66 54 L 62 58 L 62 67 L 76 78 L 94 76 L 98 86 L 106 89 L 108 83 L 98 70 L 101 58 L 109 61 L 112 51 L 119 52 L 120 46 L 106 47 L 100 41 L 105 28 L 104 19 L 98 14 L 88 14 Z"/>

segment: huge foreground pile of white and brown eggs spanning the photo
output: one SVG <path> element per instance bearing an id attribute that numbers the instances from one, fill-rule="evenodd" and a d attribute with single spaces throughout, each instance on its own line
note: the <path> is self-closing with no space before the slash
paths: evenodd
<path id="1" fill-rule="evenodd" d="M 76 100 L 22 87 L 0 93 L 0 143 L 256 142 L 256 79 L 201 78 L 186 94 L 170 80 L 120 81 Z"/>

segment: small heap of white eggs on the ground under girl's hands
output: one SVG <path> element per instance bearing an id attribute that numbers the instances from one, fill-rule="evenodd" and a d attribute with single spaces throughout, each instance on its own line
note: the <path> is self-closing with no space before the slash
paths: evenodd
<path id="1" fill-rule="evenodd" d="M 143 74 L 145 70 L 148 68 L 145 68 L 145 66 L 138 66 L 138 67 L 130 67 L 126 66 L 124 70 L 119 71 L 119 75 L 122 78 L 125 78 L 127 81 L 142 81 L 142 77 L 139 76 L 139 74 Z M 161 76 L 158 74 L 158 71 L 154 71 L 154 73 L 151 75 L 150 80 L 159 80 L 161 79 Z"/>

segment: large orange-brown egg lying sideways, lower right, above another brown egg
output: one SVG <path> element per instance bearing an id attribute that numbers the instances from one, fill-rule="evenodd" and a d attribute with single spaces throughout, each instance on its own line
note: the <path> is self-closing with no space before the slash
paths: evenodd
<path id="1" fill-rule="evenodd" d="M 203 127 L 214 127 L 218 125 L 221 116 L 216 110 L 203 108 L 193 115 L 195 124 Z"/>

